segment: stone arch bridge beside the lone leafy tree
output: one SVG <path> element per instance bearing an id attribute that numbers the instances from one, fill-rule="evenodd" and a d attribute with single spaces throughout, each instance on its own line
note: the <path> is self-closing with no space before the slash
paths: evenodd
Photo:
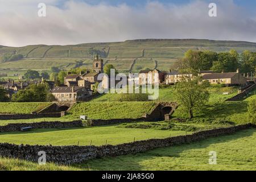
<path id="1" fill-rule="evenodd" d="M 151 112 L 144 117 L 147 121 L 168 121 L 177 107 L 176 102 L 158 102 Z"/>

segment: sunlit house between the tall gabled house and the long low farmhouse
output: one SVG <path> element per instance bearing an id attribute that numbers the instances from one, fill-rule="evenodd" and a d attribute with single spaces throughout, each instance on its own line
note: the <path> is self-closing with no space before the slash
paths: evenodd
<path id="1" fill-rule="evenodd" d="M 170 70 L 164 76 L 164 82 L 166 83 L 166 85 L 175 84 L 176 82 L 179 82 L 181 79 L 183 79 L 185 77 L 192 78 L 192 76 L 193 76 L 192 73 L 180 73 L 178 71 Z"/>

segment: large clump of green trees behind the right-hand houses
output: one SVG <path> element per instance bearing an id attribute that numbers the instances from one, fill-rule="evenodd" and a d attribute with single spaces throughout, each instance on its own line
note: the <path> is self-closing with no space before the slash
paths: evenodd
<path id="1" fill-rule="evenodd" d="M 191 72 L 194 75 L 200 70 L 212 70 L 214 72 L 236 72 L 240 68 L 241 73 L 255 73 L 256 53 L 244 51 L 239 55 L 237 51 L 213 52 L 188 50 L 183 59 L 179 61 L 179 69 Z"/>

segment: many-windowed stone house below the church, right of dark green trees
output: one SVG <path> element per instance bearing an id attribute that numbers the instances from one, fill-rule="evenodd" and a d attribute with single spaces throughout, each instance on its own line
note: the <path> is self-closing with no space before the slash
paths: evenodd
<path id="1" fill-rule="evenodd" d="M 82 86 L 60 86 L 51 90 L 57 101 L 83 101 L 92 96 L 92 92 Z"/>

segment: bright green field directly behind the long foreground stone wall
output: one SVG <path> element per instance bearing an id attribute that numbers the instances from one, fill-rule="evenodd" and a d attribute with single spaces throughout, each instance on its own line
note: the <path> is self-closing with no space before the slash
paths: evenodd
<path id="1" fill-rule="evenodd" d="M 190 132 L 188 132 L 190 133 Z M 145 140 L 149 138 L 167 138 L 184 135 L 180 130 L 139 129 L 114 126 L 99 126 L 71 129 L 36 129 L 26 132 L 1 133 L 1 142 L 15 144 L 52 144 L 54 146 L 90 144 L 101 146 L 106 140 L 108 144 L 120 144 Z"/>

